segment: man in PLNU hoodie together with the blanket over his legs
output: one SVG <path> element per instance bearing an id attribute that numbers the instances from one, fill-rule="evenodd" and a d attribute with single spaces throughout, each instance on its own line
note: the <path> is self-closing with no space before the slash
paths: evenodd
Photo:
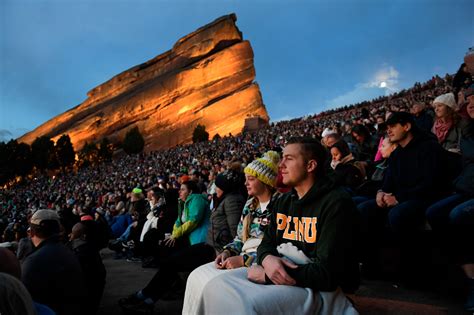
<path id="1" fill-rule="evenodd" d="M 279 167 L 292 191 L 270 209 L 258 265 L 208 282 L 199 314 L 357 314 L 342 291 L 359 284 L 357 212 L 326 159 L 315 139 L 289 141 Z"/>

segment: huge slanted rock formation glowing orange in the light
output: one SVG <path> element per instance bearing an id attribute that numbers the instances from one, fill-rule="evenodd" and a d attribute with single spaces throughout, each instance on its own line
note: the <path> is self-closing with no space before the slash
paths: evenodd
<path id="1" fill-rule="evenodd" d="M 54 117 L 19 141 L 69 134 L 74 148 L 107 137 L 122 141 L 138 126 L 146 150 L 191 142 L 197 124 L 210 137 L 239 133 L 246 117 L 269 120 L 254 82 L 253 51 L 234 14 L 181 38 L 174 47 L 95 87 L 77 107 Z"/>

